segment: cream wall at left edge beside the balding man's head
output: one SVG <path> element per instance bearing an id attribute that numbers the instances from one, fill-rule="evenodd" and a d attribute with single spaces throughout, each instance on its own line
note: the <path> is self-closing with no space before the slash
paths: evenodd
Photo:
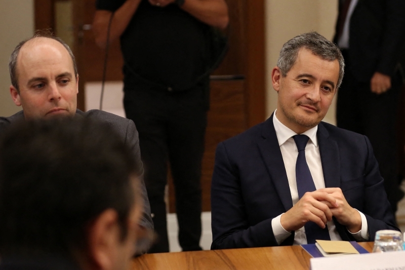
<path id="1" fill-rule="evenodd" d="M 34 31 L 33 0 L 0 0 L 0 12 L 0 116 L 9 116 L 21 109 L 9 94 L 9 58 L 14 47 Z"/>

